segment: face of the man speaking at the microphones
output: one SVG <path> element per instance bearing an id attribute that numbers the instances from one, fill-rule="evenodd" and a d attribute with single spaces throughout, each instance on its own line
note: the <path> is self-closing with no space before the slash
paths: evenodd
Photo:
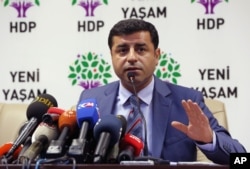
<path id="1" fill-rule="evenodd" d="M 129 35 L 114 36 L 111 55 L 114 71 L 122 84 L 132 91 L 127 73 L 134 72 L 135 85 L 139 91 L 152 80 L 160 49 L 154 49 L 149 32 L 140 31 Z"/>

